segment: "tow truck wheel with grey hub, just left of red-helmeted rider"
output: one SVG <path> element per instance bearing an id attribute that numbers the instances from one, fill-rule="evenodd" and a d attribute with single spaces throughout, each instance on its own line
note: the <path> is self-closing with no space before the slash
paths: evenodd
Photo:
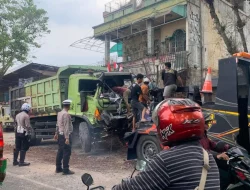
<path id="1" fill-rule="evenodd" d="M 136 145 L 138 160 L 149 162 L 161 151 L 161 146 L 156 136 L 143 135 Z"/>

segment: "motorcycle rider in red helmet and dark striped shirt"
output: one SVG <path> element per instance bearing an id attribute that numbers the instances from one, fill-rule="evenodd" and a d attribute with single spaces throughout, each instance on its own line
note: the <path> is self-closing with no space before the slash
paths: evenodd
<path id="1" fill-rule="evenodd" d="M 191 100 L 167 99 L 156 106 L 152 119 L 162 145 L 171 148 L 161 151 L 145 171 L 113 190 L 194 190 L 205 167 L 205 151 L 199 142 L 205 125 L 201 108 Z M 210 153 L 205 188 L 201 189 L 220 189 L 218 168 Z"/>

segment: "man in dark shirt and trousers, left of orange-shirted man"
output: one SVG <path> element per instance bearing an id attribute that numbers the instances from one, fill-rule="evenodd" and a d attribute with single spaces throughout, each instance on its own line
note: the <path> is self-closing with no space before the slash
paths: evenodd
<path id="1" fill-rule="evenodd" d="M 133 127 L 135 127 L 135 123 L 139 122 L 142 118 L 144 118 L 144 115 L 142 115 L 144 106 L 139 102 L 139 97 L 142 94 L 140 84 L 143 81 L 143 75 L 138 74 L 136 76 L 136 80 L 137 82 L 132 85 L 131 89 L 131 107 L 134 115 Z"/>

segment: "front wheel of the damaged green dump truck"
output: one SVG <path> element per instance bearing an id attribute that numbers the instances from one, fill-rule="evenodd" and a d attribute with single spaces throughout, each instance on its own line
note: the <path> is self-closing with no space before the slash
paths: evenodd
<path id="1" fill-rule="evenodd" d="M 79 125 L 79 139 L 81 142 L 82 150 L 85 153 L 91 151 L 91 135 L 89 131 L 89 127 L 86 122 L 82 122 Z"/>

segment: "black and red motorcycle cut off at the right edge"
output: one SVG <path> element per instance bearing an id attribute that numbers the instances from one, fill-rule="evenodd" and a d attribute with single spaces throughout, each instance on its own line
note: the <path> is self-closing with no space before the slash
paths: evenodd
<path id="1" fill-rule="evenodd" d="M 226 153 L 229 157 L 228 175 L 230 185 L 227 190 L 250 189 L 250 159 L 243 149 L 233 147 Z"/>

